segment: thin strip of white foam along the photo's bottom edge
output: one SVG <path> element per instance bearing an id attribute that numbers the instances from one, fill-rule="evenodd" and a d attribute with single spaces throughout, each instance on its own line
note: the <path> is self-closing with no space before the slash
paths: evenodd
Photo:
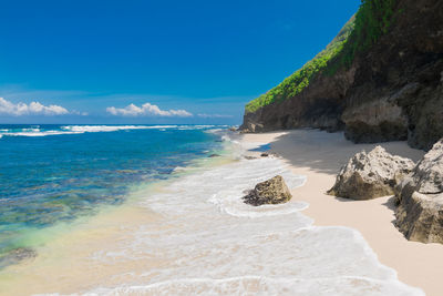
<path id="1" fill-rule="evenodd" d="M 359 290 L 349 288 L 359 285 Z M 231 278 L 184 278 L 166 280 L 146 286 L 127 286 L 114 289 L 100 288 L 85 295 L 371 295 L 385 296 L 401 293 L 416 295 L 414 290 L 396 283 L 387 283 L 364 277 L 340 278 L 271 278 L 264 276 L 239 276 Z"/>

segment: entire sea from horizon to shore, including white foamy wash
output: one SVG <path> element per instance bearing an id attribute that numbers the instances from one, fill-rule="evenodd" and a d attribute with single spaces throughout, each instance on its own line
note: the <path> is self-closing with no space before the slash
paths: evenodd
<path id="1" fill-rule="evenodd" d="M 278 157 L 215 125 L 0 125 L 4 295 L 423 295 L 303 201 L 241 196 Z M 210 157 L 214 156 L 214 157 Z"/>

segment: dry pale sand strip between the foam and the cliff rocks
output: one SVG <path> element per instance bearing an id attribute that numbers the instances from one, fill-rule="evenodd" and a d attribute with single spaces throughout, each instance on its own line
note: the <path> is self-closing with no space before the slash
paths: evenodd
<path id="1" fill-rule="evenodd" d="M 357 228 L 378 254 L 379 261 L 398 272 L 399 279 L 422 288 L 429 296 L 443 295 L 443 245 L 410 242 L 394 227 L 393 197 L 350 201 L 324 194 L 340 167 L 361 150 L 377 144 L 353 144 L 342 133 L 295 130 L 265 134 L 245 134 L 243 141 L 270 143 L 293 173 L 308 177 L 305 186 L 292 191 L 295 200 L 310 204 L 306 210 L 316 225 Z M 404 142 L 381 144 L 387 151 L 418 161 L 424 153 Z"/>

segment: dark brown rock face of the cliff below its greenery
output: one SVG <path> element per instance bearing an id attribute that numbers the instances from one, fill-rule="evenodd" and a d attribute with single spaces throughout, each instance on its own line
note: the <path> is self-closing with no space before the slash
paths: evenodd
<path id="1" fill-rule="evenodd" d="M 425 150 L 443 136 L 443 1 L 365 2 L 390 2 L 392 8 L 377 41 L 356 50 L 344 65 L 340 54 L 358 42 L 351 35 L 328 62 L 336 70 L 327 67 L 298 94 L 247 112 L 244 131 L 344 129 L 354 142 L 408 140 Z"/>

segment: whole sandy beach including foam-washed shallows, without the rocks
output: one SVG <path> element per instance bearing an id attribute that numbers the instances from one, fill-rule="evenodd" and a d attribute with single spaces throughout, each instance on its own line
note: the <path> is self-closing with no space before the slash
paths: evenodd
<path id="1" fill-rule="evenodd" d="M 324 194 L 351 155 L 374 145 L 312 130 L 230 135 L 224 156 L 37 233 L 38 256 L 0 273 L 0 295 L 440 295 L 443 246 L 408 242 L 392 224 L 392 197 Z M 269 146 L 281 159 L 244 157 Z M 384 146 L 414 161 L 423 154 Z M 243 202 L 275 175 L 292 188 L 289 203 Z"/>

